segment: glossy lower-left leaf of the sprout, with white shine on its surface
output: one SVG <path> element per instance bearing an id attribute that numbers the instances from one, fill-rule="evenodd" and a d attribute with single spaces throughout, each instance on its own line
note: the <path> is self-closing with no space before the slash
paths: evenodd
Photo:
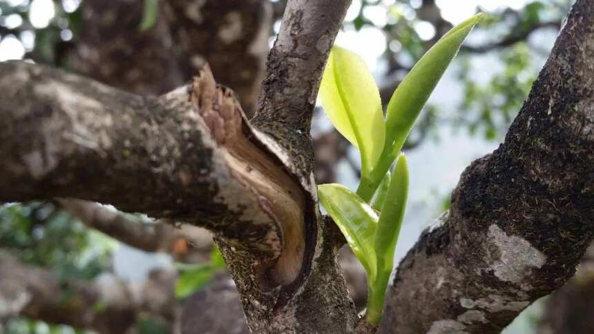
<path id="1" fill-rule="evenodd" d="M 321 184 L 318 186 L 318 195 L 365 268 L 368 282 L 373 282 L 376 275 L 376 213 L 369 204 L 341 184 Z"/>

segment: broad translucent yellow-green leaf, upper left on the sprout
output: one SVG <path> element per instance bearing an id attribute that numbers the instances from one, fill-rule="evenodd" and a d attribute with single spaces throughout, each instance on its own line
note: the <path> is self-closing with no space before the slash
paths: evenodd
<path id="1" fill-rule="evenodd" d="M 361 150 L 363 173 L 373 168 L 385 141 L 379 90 L 363 59 L 334 46 L 320 84 L 322 106 L 332 124 Z"/>

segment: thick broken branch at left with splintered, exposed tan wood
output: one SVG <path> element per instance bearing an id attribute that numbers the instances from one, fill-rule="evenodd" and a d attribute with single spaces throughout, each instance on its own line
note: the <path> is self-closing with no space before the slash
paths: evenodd
<path id="1" fill-rule="evenodd" d="M 262 151 L 266 144 L 243 135 L 250 130 L 241 128 L 239 106 L 206 73 L 192 87 L 144 98 L 43 66 L 0 63 L 0 201 L 70 197 L 183 220 L 252 254 L 264 271 L 283 245 L 303 242 L 283 239 L 298 229 L 281 231 L 303 226 L 300 192 Z M 290 249 L 275 281 L 300 268 L 290 259 L 302 250 Z"/>

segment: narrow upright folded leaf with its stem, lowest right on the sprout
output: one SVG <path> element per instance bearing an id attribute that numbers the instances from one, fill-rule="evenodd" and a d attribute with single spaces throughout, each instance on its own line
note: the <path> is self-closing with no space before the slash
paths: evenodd
<path id="1" fill-rule="evenodd" d="M 370 297 L 365 314 L 371 324 L 379 324 L 381 319 L 385 289 L 394 266 L 394 250 L 402 226 L 407 197 L 408 166 L 406 157 L 400 155 L 392 173 L 390 188 L 387 190 L 375 233 L 377 275 L 374 284 L 370 285 Z"/>

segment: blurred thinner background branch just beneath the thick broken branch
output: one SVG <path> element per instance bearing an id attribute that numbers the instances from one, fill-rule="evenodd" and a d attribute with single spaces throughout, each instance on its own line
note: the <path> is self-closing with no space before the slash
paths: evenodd
<path id="1" fill-rule="evenodd" d="M 154 221 L 81 199 L 57 202 L 90 228 L 146 252 L 170 253 L 178 261 L 207 261 L 214 246 L 211 233 L 196 226 L 174 226 L 166 219 Z"/>

